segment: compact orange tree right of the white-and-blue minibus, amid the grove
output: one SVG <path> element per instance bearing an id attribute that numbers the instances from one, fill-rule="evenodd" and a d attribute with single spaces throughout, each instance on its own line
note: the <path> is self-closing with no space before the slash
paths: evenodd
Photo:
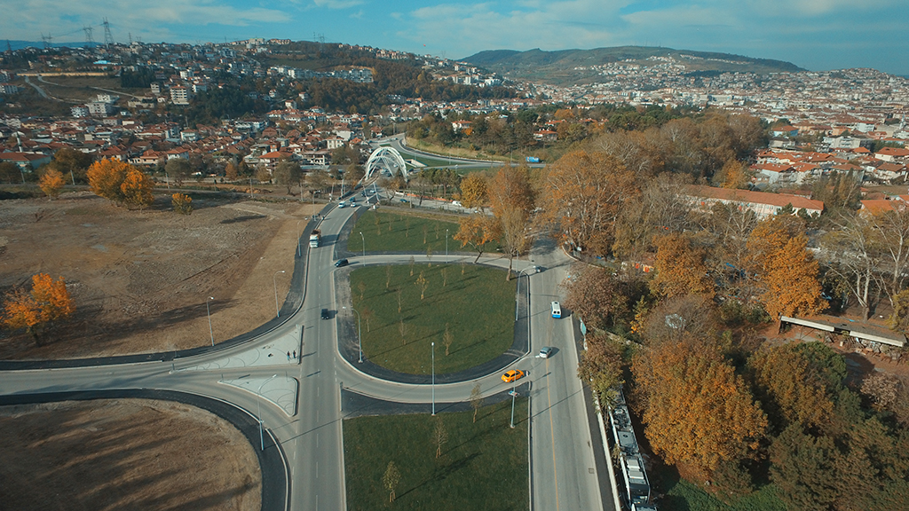
<path id="1" fill-rule="evenodd" d="M 707 275 L 704 251 L 694 248 L 686 235 L 662 235 L 656 238 L 656 276 L 650 282 L 655 294 L 713 296 L 714 283 Z"/>

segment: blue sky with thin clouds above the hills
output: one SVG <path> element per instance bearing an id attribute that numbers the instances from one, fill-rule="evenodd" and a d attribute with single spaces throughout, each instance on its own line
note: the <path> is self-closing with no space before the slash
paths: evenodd
<path id="1" fill-rule="evenodd" d="M 906 0 L 0 0 L 2 39 L 196 43 L 250 37 L 459 59 L 483 50 L 666 46 L 811 70 L 909 75 Z"/>

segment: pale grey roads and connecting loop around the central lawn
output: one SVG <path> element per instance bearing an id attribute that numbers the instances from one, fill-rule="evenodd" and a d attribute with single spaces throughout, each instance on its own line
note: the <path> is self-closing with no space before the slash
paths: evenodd
<path id="1" fill-rule="evenodd" d="M 361 206 L 363 207 L 363 206 Z M 285 323 L 262 336 L 226 349 L 177 358 L 173 362 L 144 362 L 108 366 L 4 371 L 0 373 L 0 395 L 55 393 L 74 390 L 161 389 L 208 396 L 239 406 L 261 417 L 265 426 L 263 443 L 270 446 L 274 436 L 290 467 L 287 509 L 343 510 L 345 502 L 343 412 L 341 390 L 357 392 L 388 401 L 430 403 L 433 389 L 428 385 L 396 383 L 368 376 L 356 361 L 346 360 L 339 351 L 338 331 L 342 321 L 352 321 L 349 304 L 339 303 L 336 273 L 347 271 L 334 266 L 337 254 L 345 253 L 346 240 L 339 239 L 345 223 L 352 221 L 355 208 L 326 206 L 318 228 L 323 243 L 309 250 L 305 299 Z M 304 239 L 305 244 L 305 239 Z M 415 255 L 420 261 L 425 255 Z M 405 263 L 410 255 L 365 255 L 348 257 L 351 267 L 376 263 Z M 473 261 L 474 255 L 451 255 L 451 259 Z M 435 256 L 439 261 L 439 255 Z M 529 260 L 516 264 L 522 270 L 521 286 L 530 283 L 530 351 L 492 374 L 468 381 L 435 385 L 436 403 L 466 401 L 479 382 L 484 396 L 507 390 L 502 371 L 510 367 L 528 373 L 531 397 L 531 499 L 536 510 L 604 509 L 601 480 L 597 470 L 588 406 L 576 376 L 577 350 L 571 319 L 553 319 L 549 304 L 558 299 L 570 259 L 554 243 L 542 240 L 534 245 Z M 484 257 L 481 263 L 507 267 L 507 260 Z M 531 266 L 542 266 L 534 273 Z M 264 284 L 265 285 L 265 284 Z M 524 292 L 522 289 L 522 293 Z M 330 320 L 320 318 L 323 308 L 335 311 Z M 525 325 L 525 324 L 522 324 Z M 299 343 L 299 361 L 287 362 L 284 347 L 271 358 L 259 355 L 275 351 L 280 343 Z M 290 339 L 290 341 L 288 341 Z M 281 346 L 287 346 L 281 345 Z M 297 345 L 294 345 L 297 346 Z M 535 357 L 542 346 L 554 346 L 548 359 Z M 250 354 L 256 357 L 250 358 Z M 269 352 L 269 356 L 272 354 Z M 237 366 L 238 360 L 255 363 Z M 598 432 L 593 432 L 599 436 Z M 259 448 L 259 446 L 255 446 Z M 601 453 L 602 457 L 602 453 Z M 602 466 L 602 464 L 601 464 Z M 606 493 L 605 495 L 609 495 Z M 605 500 L 611 508 L 612 499 Z"/>

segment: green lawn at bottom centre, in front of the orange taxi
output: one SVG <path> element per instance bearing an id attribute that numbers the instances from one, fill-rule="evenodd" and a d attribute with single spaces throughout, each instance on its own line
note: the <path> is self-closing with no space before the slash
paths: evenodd
<path id="1" fill-rule="evenodd" d="M 527 502 L 527 401 L 517 399 L 473 411 L 344 421 L 347 508 L 351 510 L 525 510 Z M 520 417 L 520 419 L 518 419 Z M 448 436 L 435 457 L 435 424 Z M 395 502 L 382 484 L 389 462 L 401 473 Z"/>

